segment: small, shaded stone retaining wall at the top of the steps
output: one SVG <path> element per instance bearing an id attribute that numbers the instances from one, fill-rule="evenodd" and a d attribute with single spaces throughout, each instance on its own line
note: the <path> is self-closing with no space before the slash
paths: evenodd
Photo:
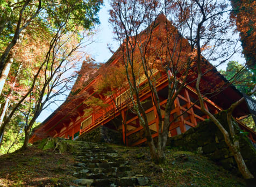
<path id="1" fill-rule="evenodd" d="M 111 130 L 110 128 L 102 125 L 88 133 L 82 134 L 77 140 L 88 142 L 115 143 L 118 145 L 123 143 L 122 134 L 119 131 Z"/>

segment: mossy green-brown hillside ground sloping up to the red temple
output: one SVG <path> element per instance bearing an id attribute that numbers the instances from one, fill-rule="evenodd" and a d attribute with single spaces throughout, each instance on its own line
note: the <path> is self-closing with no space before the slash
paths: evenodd
<path id="1" fill-rule="evenodd" d="M 115 177 L 116 181 L 113 183 L 117 186 L 131 185 L 129 182 L 134 182 L 133 185 L 147 183 L 152 186 L 245 186 L 243 179 L 193 152 L 167 150 L 166 163 L 158 166 L 151 162 L 145 147 L 91 144 L 72 140 L 65 140 L 62 148 L 56 148 L 55 145 L 48 143 L 42 146 L 41 143 L 24 152 L 0 156 L 0 186 L 77 186 L 81 184 L 81 178 L 87 178 L 85 182 L 90 182 L 86 183 L 88 185 L 97 185 L 97 182 L 98 186 L 110 186 L 110 178 Z M 60 154 L 60 150 L 64 149 L 66 152 Z M 104 156 L 104 159 L 99 156 Z M 117 163 L 118 166 L 115 165 Z M 106 169 L 110 165 L 125 169 L 119 169 L 122 173 L 112 172 L 111 168 Z M 83 168 L 77 168 L 78 166 Z M 88 171 L 85 168 L 89 168 Z M 96 174 L 95 171 L 100 168 L 105 172 L 101 170 L 100 174 Z M 77 172 L 78 169 L 85 174 Z M 94 179 L 95 177 L 105 181 Z"/>

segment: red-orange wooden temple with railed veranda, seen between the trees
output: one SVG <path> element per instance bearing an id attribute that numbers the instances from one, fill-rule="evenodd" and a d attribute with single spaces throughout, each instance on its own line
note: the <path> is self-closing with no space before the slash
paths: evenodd
<path id="1" fill-rule="evenodd" d="M 155 28 L 158 29 L 159 25 Z M 108 64 L 118 63 L 120 56 L 116 52 L 108 62 Z M 207 67 L 211 68 L 207 74 L 203 77 L 203 85 L 205 89 L 202 89 L 202 92 L 206 92 L 209 89 L 212 89 L 217 84 L 227 83 L 226 79 L 218 73 L 216 69 L 209 63 Z M 195 71 L 195 70 L 194 70 Z M 157 72 L 157 90 L 161 99 L 162 111 L 165 109 L 167 102 L 167 93 L 168 93 L 168 79 L 167 75 L 161 71 Z M 70 96 L 67 98 L 66 102 L 63 103 L 56 111 L 54 111 L 51 116 L 49 116 L 41 125 L 39 125 L 32 133 L 30 142 L 33 143 L 42 138 L 48 136 L 51 137 L 62 137 L 74 139 L 77 136 L 90 132 L 94 128 L 103 125 L 114 130 L 120 131 L 123 134 L 123 141 L 127 146 L 137 146 L 146 141 L 144 138 L 143 127 L 139 123 L 139 119 L 136 114 L 129 111 L 127 105 L 125 105 L 125 100 L 122 102 L 121 106 L 115 106 L 112 104 L 113 99 L 99 95 L 95 92 L 94 85 L 97 83 L 99 76 L 96 76 L 90 82 L 87 81 L 87 85 L 77 89 L 74 87 Z M 77 78 L 75 85 L 79 85 L 81 82 L 84 82 L 85 78 L 83 75 L 80 75 Z M 140 84 L 144 84 L 141 82 Z M 75 89 L 76 88 L 76 89 Z M 115 99 L 123 99 L 122 95 L 125 94 L 126 90 L 123 90 L 123 94 L 115 96 Z M 77 92 L 86 93 L 84 97 L 75 97 Z M 98 107 L 97 112 L 84 112 L 87 109 L 87 105 L 84 100 L 88 99 L 90 96 L 98 97 L 104 100 L 105 104 L 109 104 L 108 107 Z M 219 111 L 227 109 L 232 103 L 236 102 L 238 99 L 243 97 L 241 93 L 234 88 L 232 85 L 219 92 L 218 95 L 210 96 L 205 98 L 205 107 L 211 113 L 218 113 Z M 209 99 L 210 98 L 210 99 Z M 158 126 L 159 121 L 157 118 L 157 110 L 152 102 L 152 94 L 148 89 L 141 90 L 140 99 L 145 101 L 145 109 L 147 118 L 149 121 L 150 129 L 153 137 L 158 136 Z M 191 105 L 191 109 L 185 112 L 180 116 L 174 123 L 170 125 L 169 136 L 175 136 L 186 132 L 189 128 L 195 127 L 201 121 L 204 121 L 208 118 L 204 113 L 201 112 L 201 107 L 198 103 L 195 103 L 197 100 L 197 94 L 194 88 L 194 84 L 187 85 L 178 97 L 175 99 L 175 104 L 173 106 L 172 117 L 170 120 L 179 116 L 182 112 L 186 111 Z M 129 101 L 127 101 L 128 103 Z M 239 118 L 241 116 L 247 115 L 248 109 L 246 103 L 241 104 L 234 112 L 233 117 Z M 118 120 L 119 119 L 119 120 Z M 126 124 L 126 128 L 121 122 L 123 119 Z M 119 121 L 119 122 L 118 122 Z M 249 138 L 255 142 L 256 134 L 250 128 L 238 121 L 238 124 L 242 130 L 249 132 Z"/>

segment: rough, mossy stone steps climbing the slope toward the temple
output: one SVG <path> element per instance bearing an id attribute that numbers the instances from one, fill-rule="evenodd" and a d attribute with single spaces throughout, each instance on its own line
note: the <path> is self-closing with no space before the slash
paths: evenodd
<path id="1" fill-rule="evenodd" d="M 78 186 L 145 186 L 150 182 L 134 174 L 129 162 L 104 144 L 81 143 L 76 159 L 73 176 L 77 179 L 73 183 Z"/>

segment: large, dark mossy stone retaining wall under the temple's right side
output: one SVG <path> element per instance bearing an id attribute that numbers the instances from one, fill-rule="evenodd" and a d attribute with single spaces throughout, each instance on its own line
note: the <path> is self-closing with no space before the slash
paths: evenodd
<path id="1" fill-rule="evenodd" d="M 216 117 L 227 129 L 226 112 L 220 112 Z M 236 134 L 239 137 L 241 154 L 246 166 L 256 176 L 256 150 L 250 139 L 240 133 L 238 124 L 233 121 Z M 184 134 L 174 136 L 168 140 L 168 146 L 182 147 L 185 150 L 197 150 L 211 160 L 221 164 L 225 169 L 239 174 L 236 161 L 227 147 L 224 136 L 218 127 L 210 120 L 205 120 L 195 128 L 190 128 Z"/>

